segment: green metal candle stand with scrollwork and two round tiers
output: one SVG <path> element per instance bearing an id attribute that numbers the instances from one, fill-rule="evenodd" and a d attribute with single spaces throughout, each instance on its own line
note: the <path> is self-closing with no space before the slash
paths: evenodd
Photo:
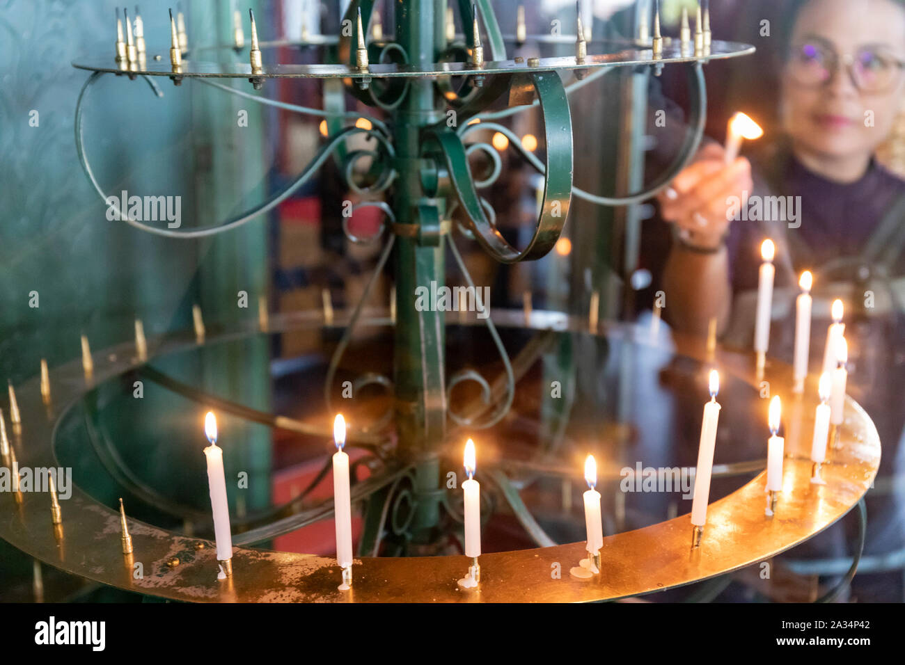
<path id="1" fill-rule="evenodd" d="M 122 219 L 126 223 L 149 233 L 181 238 L 223 233 L 271 211 L 309 182 L 329 159 L 337 162 L 348 188 L 366 197 L 364 202 L 357 204 L 358 207 L 376 207 L 384 214 L 379 231 L 368 238 L 350 233 L 347 221 L 343 221 L 344 232 L 351 242 L 383 243 L 376 269 L 351 311 L 339 313 L 332 321 L 321 318 L 319 312 L 273 317 L 266 330 L 257 326 L 231 329 L 205 341 L 206 346 L 289 330 L 306 330 L 313 335 L 324 328 L 342 328 L 324 386 L 327 412 L 332 414 L 338 410 L 334 404 L 338 388 L 336 376 L 355 330 L 364 325 L 385 328 L 392 337 L 392 376 L 368 372 L 360 375 L 354 385 L 356 391 L 367 385 L 380 386 L 392 406 L 372 423 L 353 423 L 354 428 L 349 432 L 350 444 L 367 450 L 367 463 L 372 468 L 371 476 L 352 488 L 353 502 L 364 504 L 364 527 L 358 546 L 362 557 L 356 560 L 352 589 L 337 590 L 339 569 L 329 557 L 249 548 L 329 518 L 330 501 L 301 508 L 302 502 L 293 499 L 289 504 L 246 520 L 243 531 L 233 539 L 237 546 L 233 576 L 220 583 L 211 573 L 216 569 L 213 547 L 199 546 L 196 538 L 131 519 L 129 529 L 134 554 L 129 556 L 135 560 L 140 557 L 153 574 L 141 579 L 130 575 L 129 560 L 124 563 L 119 549 L 108 546 L 110 534 L 119 534 L 118 511 L 100 505 L 78 487 L 72 499 L 64 502 L 60 528 L 52 528 L 46 519 L 45 497 L 28 495 L 24 501 L 14 502 L 8 495 L 0 496 L 2 509 L 14 514 L 14 518 L 0 523 L 0 537 L 75 575 L 177 600 L 589 601 L 689 584 L 750 565 L 802 542 L 841 518 L 861 499 L 879 464 L 879 442 L 876 442 L 870 419 L 850 402 L 851 418 L 843 428 L 843 441 L 860 443 L 855 450 L 838 453 L 845 456 L 847 465 L 827 465 L 826 486 L 815 489 L 807 481 L 810 465 L 806 459 L 806 437 L 800 442 L 790 442 L 787 473 L 789 487 L 795 489 L 786 497 L 788 519 L 783 520 L 781 527 L 778 523 L 765 523 L 759 519 L 763 513 L 763 478 L 757 476 L 711 505 L 708 533 L 700 549 L 691 554 L 687 518 L 675 518 L 606 537 L 602 551 L 605 575 L 595 575 L 594 581 L 558 579 L 551 577 L 551 565 L 576 563 L 584 556 L 583 544 L 555 546 L 519 498 L 519 490 L 507 476 L 507 466 L 501 461 L 481 466 L 479 441 L 478 477 L 481 478 L 483 473 L 484 478 L 491 480 L 488 491 L 481 492 L 482 497 L 488 495 L 486 500 L 491 502 L 504 501 L 541 549 L 481 556 L 481 584 L 473 592 L 459 590 L 455 584 L 467 565 L 463 563 L 463 556 L 412 556 L 449 555 L 449 539 L 443 539 L 442 532 L 449 529 L 451 522 L 453 525 L 461 523 L 462 513 L 461 506 L 455 505 L 451 493 L 444 488 L 443 460 L 459 454 L 465 432 L 489 430 L 510 414 L 519 377 L 523 377 L 529 366 L 548 350 L 550 336 L 580 333 L 592 338 L 609 335 L 634 338 L 638 334 L 633 327 L 593 325 L 589 330 L 586 320 L 552 312 L 534 312 L 527 323 L 522 312 L 494 310 L 489 318 L 477 324 L 486 326 L 494 342 L 502 367 L 500 375 L 489 380 L 472 369 L 447 375 L 446 332 L 452 318 L 444 311 L 416 308 L 414 293 L 418 287 L 445 283 L 447 250 L 468 286 L 475 286 L 450 234 L 458 230 L 501 263 L 535 261 L 547 255 L 559 240 L 573 196 L 604 205 L 633 204 L 649 199 L 690 163 L 700 144 L 706 117 L 702 66 L 710 60 L 753 52 L 753 47 L 746 44 L 711 41 L 709 34 L 705 44 L 700 34 L 692 41 L 691 36 L 686 35 L 681 40 L 663 38 L 655 31 L 653 38 L 642 35 L 640 40 L 622 42 L 585 41 L 583 35 L 559 36 L 554 41 L 576 43 L 576 56 L 509 60 L 507 38 L 500 32 L 489 0 L 478 0 L 476 10 L 470 0 L 460 0 L 459 10 L 467 36 L 456 35 L 452 40 L 447 29 L 445 0 L 395 3 L 395 38 L 385 37 L 381 30 L 371 40 L 366 34 L 372 23 L 374 2 L 353 0 L 338 38 L 312 35 L 303 43 L 259 43 L 254 32 L 250 63 L 204 62 L 191 57 L 197 54 L 201 58 L 216 47 L 199 47 L 188 52 L 184 59 L 176 58 L 171 52 L 170 58 L 148 53 L 134 61 L 127 58 L 114 62 L 110 57 L 73 63 L 79 69 L 92 72 L 76 109 L 75 136 L 86 175 L 105 201 L 107 196 L 90 166 L 82 126 L 88 92 L 107 74 L 141 78 L 158 97 L 163 94 L 157 81 L 166 78 L 177 84 L 197 81 L 261 103 L 327 119 L 329 136 L 310 164 L 265 203 L 223 223 L 200 229 L 157 228 L 131 219 L 123 212 Z M 472 30 L 472 24 L 477 26 L 479 23 L 483 28 L 483 40 L 478 31 Z M 659 17 L 655 24 L 659 27 Z M 550 36 L 529 35 L 526 39 L 539 43 L 549 41 Z M 253 51 L 255 47 L 268 51 L 272 47 L 303 47 L 306 44 L 335 45 L 338 62 L 265 64 L 256 60 Z M 233 49 L 237 54 L 245 52 L 238 43 L 218 48 Z M 489 53 L 486 60 L 483 58 L 485 48 Z M 643 192 L 611 198 L 578 189 L 573 183 L 569 94 L 619 68 L 653 68 L 659 72 L 667 65 L 686 68 L 691 84 L 691 119 L 679 156 Z M 566 85 L 563 76 L 569 72 L 576 72 L 576 81 Z M 255 88 L 260 88 L 264 82 L 274 79 L 319 79 L 331 90 L 337 90 L 341 85 L 357 100 L 383 110 L 388 119 L 367 118 L 361 113 L 346 111 L 341 95 L 340 100 L 336 95 L 325 95 L 328 100 L 326 110 L 310 109 L 267 100 L 224 84 L 230 82 L 227 80 L 249 80 Z M 545 139 L 545 157 L 542 159 L 521 147 L 510 129 L 494 121 L 525 109 L 538 109 L 542 119 Z M 370 128 L 345 126 L 349 119 L 362 117 L 371 121 Z M 481 123 L 473 124 L 476 119 Z M 466 143 L 465 139 L 479 129 L 499 131 L 510 138 L 510 146 L 519 150 L 530 166 L 543 176 L 538 221 L 529 242 L 522 247 L 513 246 L 503 237 L 496 226 L 496 214 L 480 194 L 482 189 L 494 185 L 501 175 L 501 168 L 499 159 L 494 160 L 492 147 Z M 355 135 L 373 139 L 374 147 L 348 151 L 346 142 Z M 490 155 L 493 163 L 491 175 L 481 181 L 476 180 L 469 165 L 469 156 L 475 150 Z M 367 184 L 358 181 L 355 175 L 357 163 L 366 157 L 373 161 Z M 461 225 L 452 223 L 453 212 L 462 219 Z M 395 282 L 393 312 L 390 317 L 386 312 L 376 316 L 367 312 L 365 305 L 377 277 L 391 258 L 395 261 L 391 268 Z M 466 328 L 475 324 L 474 321 L 460 323 Z M 498 326 L 507 330 L 522 327 L 531 333 L 532 337 L 516 358 L 510 359 Z M 195 341 L 186 337 L 169 337 L 156 343 L 154 357 L 195 348 Z M 686 353 L 690 357 L 697 355 L 693 348 L 686 349 Z M 143 377 L 196 403 L 271 428 L 329 437 L 326 420 L 316 424 L 300 423 L 256 412 L 181 384 L 132 355 L 130 345 L 106 350 L 103 357 L 107 360 L 96 362 L 90 383 L 84 380 L 78 363 L 54 370 L 51 376 L 53 399 L 58 408 L 52 411 L 43 408 L 36 380 L 19 386 L 23 424 L 17 430 L 14 442 L 19 463 L 38 465 L 55 461 L 54 450 L 59 444 L 55 435 L 65 430 L 62 423 L 78 418 L 85 400 L 102 401 L 105 382 L 115 383 L 117 377 Z M 745 380 L 748 380 L 744 369 L 747 360 L 721 358 L 721 362 L 729 365 L 735 363 L 738 375 L 745 376 Z M 472 401 L 464 410 L 453 409 L 452 389 L 465 382 L 478 385 L 480 399 Z M 89 423 L 89 434 L 91 445 L 99 456 L 110 458 L 112 447 L 110 442 L 104 441 L 103 433 L 92 430 Z M 116 461 L 110 458 L 108 463 L 115 470 Z M 129 483 L 129 479 L 123 482 Z M 136 489 L 134 482 L 130 489 L 140 492 L 148 503 L 167 502 L 154 489 Z M 489 507 L 492 506 L 489 504 Z M 195 515 L 195 518 L 205 523 L 202 516 Z M 733 525 L 743 525 L 744 538 L 737 537 Z M 457 528 L 461 532 L 461 525 Z M 395 542 L 405 544 L 393 552 L 408 556 L 377 556 L 385 532 L 394 537 Z M 708 540 L 719 543 L 719 547 L 708 548 Z M 87 551 L 91 556 L 85 554 Z M 129 559 L 129 556 L 125 558 Z M 180 564 L 167 566 L 167 561 L 173 558 L 178 558 Z"/>

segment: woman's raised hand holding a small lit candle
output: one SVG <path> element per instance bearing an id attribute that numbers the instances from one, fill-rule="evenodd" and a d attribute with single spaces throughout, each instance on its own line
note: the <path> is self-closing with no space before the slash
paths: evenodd
<path id="1" fill-rule="evenodd" d="M 678 225 L 681 238 L 704 250 L 719 249 L 729 230 L 727 201 L 738 197 L 745 205 L 754 187 L 751 164 L 738 157 L 726 165 L 726 151 L 719 144 L 703 147 L 691 166 L 686 167 L 672 185 L 657 195 L 662 217 Z"/>

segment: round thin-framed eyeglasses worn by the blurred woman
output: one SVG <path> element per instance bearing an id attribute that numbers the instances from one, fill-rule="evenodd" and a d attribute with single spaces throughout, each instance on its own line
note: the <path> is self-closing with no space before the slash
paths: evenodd
<path id="1" fill-rule="evenodd" d="M 840 60 L 839 53 L 824 44 L 798 44 L 788 62 L 789 73 L 799 85 L 824 85 L 839 71 Z M 905 69 L 905 62 L 873 48 L 846 55 L 843 62 L 854 86 L 867 93 L 889 92 Z"/>

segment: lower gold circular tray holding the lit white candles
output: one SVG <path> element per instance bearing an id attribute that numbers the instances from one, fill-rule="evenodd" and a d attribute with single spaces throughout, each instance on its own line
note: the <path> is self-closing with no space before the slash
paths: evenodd
<path id="1" fill-rule="evenodd" d="M 338 316 L 338 325 L 345 320 Z M 503 327 L 524 325 L 521 311 L 494 311 Z M 374 319 L 371 323 L 386 322 Z M 587 331 L 586 321 L 535 311 L 532 328 Z M 317 313 L 271 319 L 271 332 L 319 328 Z M 216 343 L 257 332 L 251 325 L 208 337 Z M 601 326 L 598 334 L 646 337 L 645 330 Z M 158 356 L 195 347 L 194 337 L 148 340 Z M 706 359 L 704 345 L 676 338 L 676 352 Z M 59 466 L 53 450 L 55 429 L 62 416 L 78 404 L 92 385 L 139 365 L 134 346 L 121 344 L 94 356 L 93 383 L 86 381 L 81 362 L 61 366 L 51 374 L 52 405 L 45 407 L 38 377 L 16 386 L 21 427 L 10 428 L 20 467 Z M 721 372 L 755 385 L 754 358 L 718 350 L 713 361 Z M 791 371 L 767 363 L 773 393 L 781 394 L 784 412 L 800 422 L 786 421 L 784 491 L 776 517 L 766 518 L 765 474 L 761 473 L 724 499 L 712 503 L 701 546 L 691 549 L 691 522 L 682 515 L 650 527 L 606 537 L 601 574 L 589 580 L 569 575 L 569 568 L 586 556 L 583 542 L 569 545 L 499 552 L 481 556 L 481 584 L 464 591 L 456 581 L 467 571 L 465 556 L 356 559 L 354 586 L 338 591 L 340 570 L 325 556 L 235 547 L 233 577 L 216 579 L 215 549 L 210 541 L 185 537 L 129 519 L 134 552 L 124 556 L 119 543 L 119 513 L 101 505 L 76 485 L 63 500 L 62 525 L 54 526 L 47 494 L 25 492 L 22 502 L 0 493 L 0 537 L 46 564 L 74 575 L 138 594 L 188 602 L 583 602 L 614 600 L 691 584 L 764 561 L 842 518 L 870 488 L 880 466 L 880 441 L 871 419 L 846 398 L 845 419 L 839 430 L 840 447 L 828 451 L 823 476 L 826 484 L 810 480 L 810 439 L 814 405 L 805 398 L 794 408 Z M 810 383 L 807 394 L 815 394 Z M 765 412 L 766 413 L 766 412 Z M 787 416 L 786 416 L 787 417 Z M 765 451 L 767 427 L 765 424 Z M 789 434 L 788 432 L 793 432 Z M 203 548 L 196 548 L 204 543 Z M 177 557 L 180 564 L 168 567 Z M 135 579 L 132 565 L 141 562 L 144 576 Z M 553 575 L 560 570 L 560 576 Z"/>

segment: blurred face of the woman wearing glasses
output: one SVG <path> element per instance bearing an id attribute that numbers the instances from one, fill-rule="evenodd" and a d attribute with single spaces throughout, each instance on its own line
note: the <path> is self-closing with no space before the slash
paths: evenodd
<path id="1" fill-rule="evenodd" d="M 901 5 L 892 0 L 809 3 L 795 24 L 783 74 L 786 131 L 820 157 L 872 154 L 905 108 L 900 62 L 905 62 Z"/>

